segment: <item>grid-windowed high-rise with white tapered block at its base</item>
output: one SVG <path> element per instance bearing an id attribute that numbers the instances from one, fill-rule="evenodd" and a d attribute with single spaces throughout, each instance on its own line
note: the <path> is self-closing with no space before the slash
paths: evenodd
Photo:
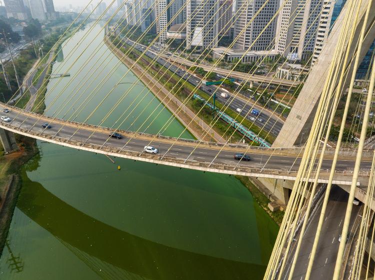
<path id="1" fill-rule="evenodd" d="M 186 0 L 186 48 L 216 47 L 219 1 Z"/>

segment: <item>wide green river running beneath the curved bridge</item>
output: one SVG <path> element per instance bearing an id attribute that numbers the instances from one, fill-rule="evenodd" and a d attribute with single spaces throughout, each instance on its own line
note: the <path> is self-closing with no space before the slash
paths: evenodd
<path id="1" fill-rule="evenodd" d="M 103 44 L 101 26 L 89 28 L 62 45 L 53 73 L 68 71 L 70 77 L 49 82 L 48 115 L 98 123 L 137 82 L 130 72 L 121 80 L 126 84 L 115 86 L 127 68 L 121 64 L 111 72 L 118 60 Z M 121 128 L 157 133 L 171 113 L 155 109 L 159 101 L 142 89 L 137 84 L 129 91 L 103 125 L 120 119 Z M 80 104 L 86 105 L 81 111 Z M 128 116 L 123 122 L 122 114 Z M 151 125 L 143 123 L 156 115 Z M 162 133 L 182 130 L 173 120 Z M 38 147 L 40 154 L 22 169 L 1 280 L 262 279 L 277 226 L 235 178 L 117 158 L 113 164 L 103 155 L 49 143 Z"/>

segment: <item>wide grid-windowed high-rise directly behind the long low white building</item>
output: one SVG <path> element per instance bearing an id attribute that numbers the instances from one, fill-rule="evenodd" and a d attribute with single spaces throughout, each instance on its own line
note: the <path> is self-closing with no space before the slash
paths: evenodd
<path id="1" fill-rule="evenodd" d="M 253 18 L 255 13 L 264 5 L 264 0 L 236 0 L 234 49 L 267 50 L 272 48 L 276 24 L 272 17 L 276 13 L 277 3 L 278 0 L 269 0 Z M 272 22 L 263 30 L 271 20 Z"/>

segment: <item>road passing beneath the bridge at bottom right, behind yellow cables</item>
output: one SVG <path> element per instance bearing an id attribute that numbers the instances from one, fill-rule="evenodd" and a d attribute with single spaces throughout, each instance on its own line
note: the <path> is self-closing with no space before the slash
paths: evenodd
<path id="1" fill-rule="evenodd" d="M 316 251 L 315 261 L 312 267 L 310 279 L 332 279 L 334 266 L 336 262 L 337 252 L 339 241 L 338 238 L 342 232 L 343 220 L 345 218 L 345 209 L 348 200 L 348 193 L 337 186 L 333 186 L 332 190 L 329 194 L 329 201 L 327 204 L 327 210 L 322 226 L 322 230 L 320 233 L 320 239 L 318 248 Z M 319 221 L 319 214 L 321 211 L 322 200 L 320 204 L 316 206 L 315 212 L 310 217 L 309 222 L 306 227 L 306 231 L 303 235 L 302 244 L 299 250 L 297 263 L 295 266 L 294 274 L 292 280 L 300 280 L 303 279 L 307 270 L 307 265 L 310 257 L 310 252 L 312 249 L 312 243 L 315 238 L 316 234 L 316 227 Z M 347 243 L 349 244 L 350 239 L 353 237 L 353 229 L 352 226 L 354 225 L 354 221 L 359 219 L 360 215 L 360 206 L 353 205 L 353 210 L 350 217 L 350 225 L 349 225 L 349 240 Z M 344 238 L 341 239 L 341 242 L 344 241 Z M 285 273 L 283 274 L 282 280 L 287 280 L 290 263 L 292 261 L 292 257 L 295 254 L 295 244 L 293 246 L 293 250 L 291 250 L 289 254 L 289 259 L 287 262 L 287 266 L 285 267 Z M 347 250 L 348 248 L 345 248 Z"/>

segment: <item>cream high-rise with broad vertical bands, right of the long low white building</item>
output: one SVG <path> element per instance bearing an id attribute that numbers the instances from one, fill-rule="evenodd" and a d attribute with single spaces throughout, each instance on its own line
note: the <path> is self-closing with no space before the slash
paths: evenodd
<path id="1" fill-rule="evenodd" d="M 320 0 L 286 0 L 276 27 L 275 50 L 290 60 L 307 59 L 312 55 Z"/>

